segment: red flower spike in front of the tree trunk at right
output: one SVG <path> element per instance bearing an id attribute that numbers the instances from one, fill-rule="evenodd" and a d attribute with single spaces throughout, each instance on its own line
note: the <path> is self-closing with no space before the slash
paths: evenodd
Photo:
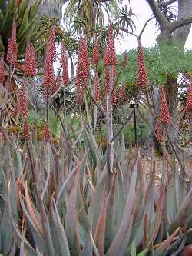
<path id="1" fill-rule="evenodd" d="M 167 99 L 164 86 L 161 87 L 160 92 L 160 100 L 161 100 L 161 110 L 160 110 L 160 121 L 164 124 L 170 124 L 171 117 L 169 108 L 167 106 Z"/>

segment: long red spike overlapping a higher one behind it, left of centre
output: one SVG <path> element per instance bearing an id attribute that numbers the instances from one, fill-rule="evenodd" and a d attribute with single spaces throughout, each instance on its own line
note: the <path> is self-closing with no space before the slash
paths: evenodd
<path id="1" fill-rule="evenodd" d="M 46 48 L 45 54 L 45 73 L 43 77 L 43 95 L 45 99 L 50 98 L 52 92 L 52 86 L 55 83 L 55 74 L 53 69 L 53 62 L 51 60 L 51 52 L 49 51 L 49 45 Z"/>

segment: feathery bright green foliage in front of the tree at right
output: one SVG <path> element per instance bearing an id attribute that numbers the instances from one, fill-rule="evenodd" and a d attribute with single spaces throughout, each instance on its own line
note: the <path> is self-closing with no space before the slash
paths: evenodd
<path id="1" fill-rule="evenodd" d="M 128 65 L 120 77 L 127 85 L 137 83 L 137 50 L 128 53 Z M 148 80 L 152 85 L 162 85 L 167 76 L 177 78 L 180 73 L 192 71 L 192 52 L 181 48 L 177 42 L 172 45 L 164 44 L 160 47 L 144 48 L 145 64 Z M 118 56 L 118 71 L 121 69 L 122 55 Z"/>

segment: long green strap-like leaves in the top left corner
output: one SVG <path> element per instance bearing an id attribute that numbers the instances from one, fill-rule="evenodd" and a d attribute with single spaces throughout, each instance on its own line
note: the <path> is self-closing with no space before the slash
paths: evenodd
<path id="1" fill-rule="evenodd" d="M 38 40 L 38 16 L 37 10 L 41 0 L 35 0 L 31 4 L 23 0 L 20 5 L 15 0 L 2 0 L 0 2 L 0 52 L 6 52 L 8 38 L 12 36 L 12 23 L 15 18 L 17 25 L 18 54 L 25 52 L 25 45 L 28 38 L 34 43 Z"/>

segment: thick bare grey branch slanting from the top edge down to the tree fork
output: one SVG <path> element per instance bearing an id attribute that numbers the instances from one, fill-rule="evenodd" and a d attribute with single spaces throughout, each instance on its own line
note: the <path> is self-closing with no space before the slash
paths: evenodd
<path id="1" fill-rule="evenodd" d="M 169 26 L 169 22 L 167 21 L 167 18 L 164 17 L 164 15 L 161 13 L 161 10 L 159 6 L 157 5 L 157 2 L 154 0 L 146 0 L 148 5 L 151 8 L 151 11 L 154 14 L 154 17 L 157 19 L 157 22 L 159 23 L 160 27 Z"/>

